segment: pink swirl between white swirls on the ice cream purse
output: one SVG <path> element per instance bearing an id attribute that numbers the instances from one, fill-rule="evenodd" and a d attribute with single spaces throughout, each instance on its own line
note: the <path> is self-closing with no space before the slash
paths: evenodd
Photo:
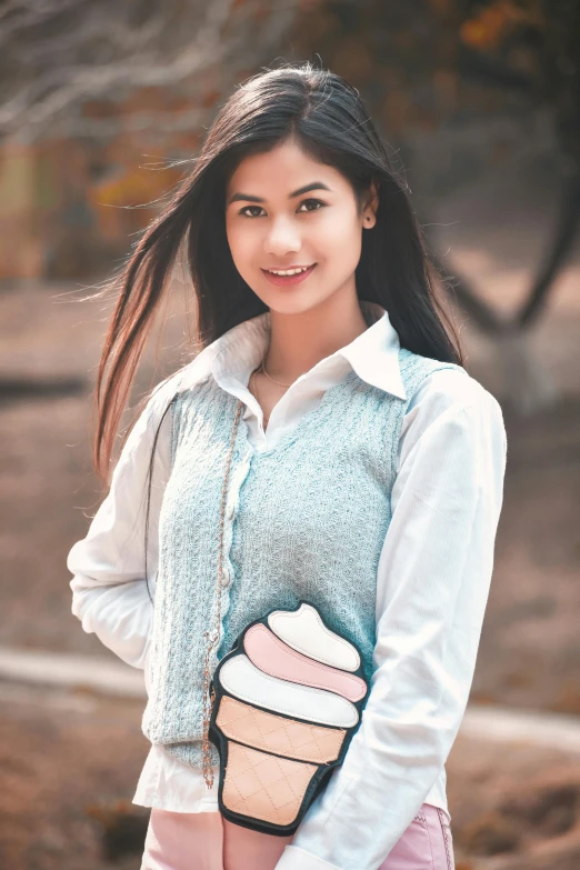
<path id="1" fill-rule="evenodd" d="M 360 701 L 367 692 L 367 684 L 360 677 L 302 656 L 277 638 L 263 623 L 246 632 L 243 648 L 252 664 L 271 677 L 326 689 L 352 702 Z"/>

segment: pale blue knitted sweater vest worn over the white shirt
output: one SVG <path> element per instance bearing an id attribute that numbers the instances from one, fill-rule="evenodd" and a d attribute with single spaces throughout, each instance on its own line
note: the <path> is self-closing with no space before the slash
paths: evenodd
<path id="1" fill-rule="evenodd" d="M 210 670 L 248 622 L 316 604 L 373 670 L 377 569 L 391 520 L 398 442 L 421 381 L 453 363 L 399 351 L 402 400 L 354 371 L 271 450 L 240 419 L 223 527 L 221 636 Z M 171 474 L 159 518 L 159 571 L 142 731 L 201 770 L 203 632 L 216 626 L 220 504 L 238 400 L 209 376 L 171 414 Z M 212 763 L 219 763 L 211 747 Z"/>

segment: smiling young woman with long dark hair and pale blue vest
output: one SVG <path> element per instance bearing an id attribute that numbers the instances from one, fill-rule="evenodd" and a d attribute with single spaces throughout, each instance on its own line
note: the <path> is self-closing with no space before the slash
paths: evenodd
<path id="1" fill-rule="evenodd" d="M 506 433 L 357 90 L 288 66 L 219 112 L 123 274 L 97 388 L 104 472 L 182 251 L 202 350 L 149 397 L 68 559 L 83 629 L 146 672 L 141 870 L 451 870 L 444 762 Z M 342 764 L 279 837 L 219 811 L 204 711 L 243 627 L 301 599 L 358 644 L 370 693 Z"/>

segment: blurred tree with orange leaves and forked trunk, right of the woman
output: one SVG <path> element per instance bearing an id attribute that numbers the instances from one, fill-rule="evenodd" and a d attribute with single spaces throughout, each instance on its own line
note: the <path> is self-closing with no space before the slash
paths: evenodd
<path id="1" fill-rule="evenodd" d="M 521 118 L 539 108 L 549 114 L 561 158 L 561 202 L 524 301 L 506 318 L 467 276 L 454 270 L 450 283 L 471 320 L 498 342 L 513 404 L 528 410 L 551 400 L 528 331 L 580 218 L 580 0 L 327 0 L 297 19 L 297 39 L 307 56 L 322 57 L 364 93 L 394 154 L 404 153 L 411 131 L 429 138 L 482 118 Z M 422 218 L 427 236 L 432 222 Z M 441 273 L 451 278 L 430 248 Z"/>

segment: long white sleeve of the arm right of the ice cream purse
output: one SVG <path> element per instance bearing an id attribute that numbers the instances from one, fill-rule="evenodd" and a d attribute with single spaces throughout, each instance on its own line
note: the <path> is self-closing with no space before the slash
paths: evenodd
<path id="1" fill-rule="evenodd" d="M 277 870 L 377 870 L 434 784 L 463 718 L 503 498 L 500 406 L 430 376 L 401 434 L 378 569 L 371 691 L 344 762 Z"/>

